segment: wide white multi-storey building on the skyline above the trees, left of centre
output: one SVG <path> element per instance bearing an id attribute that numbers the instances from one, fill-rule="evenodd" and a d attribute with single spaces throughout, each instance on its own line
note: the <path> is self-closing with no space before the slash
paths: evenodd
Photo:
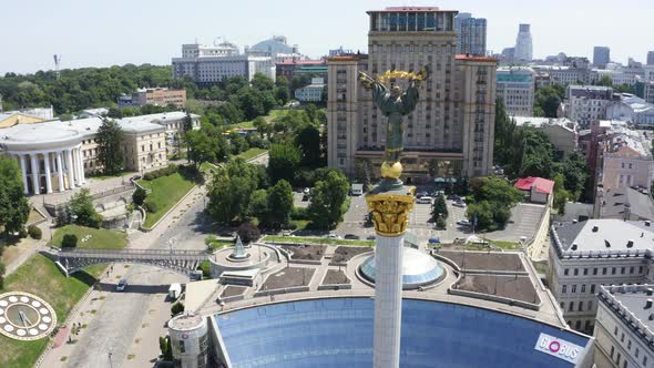
<path id="1" fill-rule="evenodd" d="M 252 80 L 255 73 L 275 80 L 272 57 L 241 54 L 238 47 L 229 42 L 183 44 L 182 58 L 173 58 L 173 78 L 190 76 L 198 84 L 217 83 L 236 75 Z"/>

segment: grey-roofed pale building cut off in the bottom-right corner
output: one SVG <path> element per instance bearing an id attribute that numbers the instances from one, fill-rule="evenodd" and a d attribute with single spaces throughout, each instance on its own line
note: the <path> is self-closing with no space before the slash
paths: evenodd
<path id="1" fill-rule="evenodd" d="M 594 360 L 597 367 L 654 367 L 654 285 L 602 286 L 597 294 Z"/>

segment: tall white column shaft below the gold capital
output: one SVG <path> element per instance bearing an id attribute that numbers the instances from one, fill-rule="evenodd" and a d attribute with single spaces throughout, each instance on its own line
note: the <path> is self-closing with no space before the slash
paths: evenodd
<path id="1" fill-rule="evenodd" d="M 405 236 L 377 236 L 375 247 L 375 335 L 372 367 L 400 366 L 402 244 Z"/>

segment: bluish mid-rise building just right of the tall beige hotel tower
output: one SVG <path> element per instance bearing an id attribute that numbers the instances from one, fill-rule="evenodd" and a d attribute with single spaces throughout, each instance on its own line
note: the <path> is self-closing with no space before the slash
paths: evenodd
<path id="1" fill-rule="evenodd" d="M 534 71 L 525 67 L 498 68 L 498 98 L 512 116 L 533 116 Z"/>

